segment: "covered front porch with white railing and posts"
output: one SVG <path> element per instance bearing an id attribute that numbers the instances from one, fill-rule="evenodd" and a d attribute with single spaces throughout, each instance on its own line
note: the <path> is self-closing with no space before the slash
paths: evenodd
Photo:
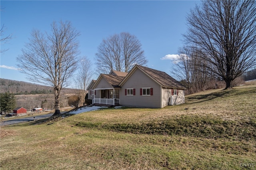
<path id="1" fill-rule="evenodd" d="M 92 99 L 92 104 L 119 105 L 119 93 L 120 88 L 94 89 L 94 99 Z"/>

